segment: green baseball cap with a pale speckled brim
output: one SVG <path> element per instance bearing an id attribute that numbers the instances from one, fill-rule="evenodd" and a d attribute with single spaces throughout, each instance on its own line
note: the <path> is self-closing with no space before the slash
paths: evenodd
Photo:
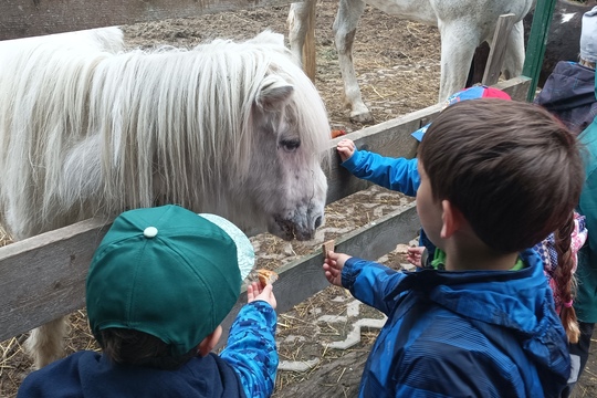
<path id="1" fill-rule="evenodd" d="M 90 266 L 90 326 L 150 334 L 186 354 L 228 315 L 254 265 L 253 247 L 230 221 L 179 206 L 123 212 Z"/>

